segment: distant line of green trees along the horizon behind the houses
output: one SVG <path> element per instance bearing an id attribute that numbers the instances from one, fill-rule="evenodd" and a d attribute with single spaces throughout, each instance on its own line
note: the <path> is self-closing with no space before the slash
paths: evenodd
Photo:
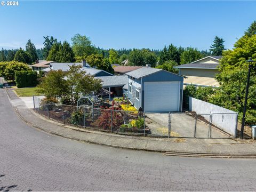
<path id="1" fill-rule="evenodd" d="M 113 73 L 111 64 L 128 60 L 131 66 L 146 66 L 163 68 L 177 73 L 173 66 L 190 63 L 207 55 L 221 55 L 224 48 L 224 40 L 215 37 L 209 51 L 199 51 L 194 47 L 181 47 L 170 44 L 163 50 L 153 49 L 102 49 L 96 47 L 85 35 L 76 34 L 71 38 L 71 45 L 67 41 L 60 42 L 53 36 L 44 37 L 44 47 L 36 49 L 29 39 L 26 49 L 4 50 L 0 54 L 1 61 L 18 61 L 33 64 L 37 59 L 56 62 L 81 62 L 86 60 L 91 67 L 97 67 Z"/>

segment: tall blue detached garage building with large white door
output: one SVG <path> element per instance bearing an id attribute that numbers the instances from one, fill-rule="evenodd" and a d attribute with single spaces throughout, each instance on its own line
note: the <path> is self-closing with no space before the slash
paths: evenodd
<path id="1" fill-rule="evenodd" d="M 149 67 L 126 75 L 127 96 L 135 108 L 147 112 L 182 111 L 183 76 Z"/>

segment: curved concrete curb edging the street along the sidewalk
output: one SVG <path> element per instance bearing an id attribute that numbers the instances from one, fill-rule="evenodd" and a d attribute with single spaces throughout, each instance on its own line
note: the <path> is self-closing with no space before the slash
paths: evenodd
<path id="1" fill-rule="evenodd" d="M 7 97 L 10 99 L 10 95 L 7 92 L 7 90 L 5 89 L 6 93 L 7 93 Z M 13 106 L 14 107 L 14 106 Z M 84 142 L 84 143 L 92 143 L 92 144 L 96 144 L 96 145 L 102 145 L 102 146 L 108 146 L 108 147 L 115 147 L 115 148 L 122 148 L 122 149 L 132 149 L 132 150 L 143 150 L 143 151 L 149 151 L 149 152 L 157 152 L 157 153 L 164 153 L 166 156 L 179 156 L 179 157 L 207 157 L 207 158 L 256 158 L 256 153 L 252 153 L 252 154 L 229 154 L 229 153 L 194 153 L 194 152 L 186 152 L 186 151 L 166 151 L 166 150 L 153 150 L 153 149 L 144 149 L 144 148 L 134 148 L 134 147 L 127 147 L 127 146 L 117 146 L 117 145 L 110 145 L 110 144 L 106 144 L 106 143 L 100 143 L 100 142 L 93 142 L 93 141 L 89 141 L 89 140 L 82 140 L 82 139 L 77 139 L 77 138 L 73 138 L 73 137 L 69 137 L 68 135 L 64 135 L 64 134 L 60 134 L 54 131 L 49 131 L 49 130 L 45 130 L 37 125 L 34 125 L 33 123 L 30 123 L 29 121 L 27 121 L 20 113 L 19 110 L 17 109 L 17 107 L 14 107 L 15 112 L 17 113 L 17 115 L 20 117 L 20 119 L 22 119 L 22 121 L 24 121 L 25 123 L 27 123 L 29 126 L 34 127 L 37 130 L 41 130 L 44 131 L 46 133 L 52 134 L 52 135 L 57 135 L 60 136 L 62 138 L 66 138 L 66 139 L 71 139 L 71 140 L 76 140 L 79 142 Z M 45 121 L 45 120 L 44 120 Z M 72 129 L 75 131 L 79 131 L 70 127 L 65 126 L 68 129 Z M 90 133 L 90 132 L 88 132 Z M 118 137 L 118 136 L 117 136 Z"/>

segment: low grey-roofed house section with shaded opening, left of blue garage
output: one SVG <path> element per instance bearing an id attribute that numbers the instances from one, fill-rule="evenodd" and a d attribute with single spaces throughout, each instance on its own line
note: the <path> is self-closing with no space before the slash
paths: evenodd
<path id="1" fill-rule="evenodd" d="M 113 76 L 101 76 L 95 77 L 101 79 L 102 88 L 107 89 L 113 94 L 109 94 L 109 100 L 112 97 L 123 97 L 124 86 L 128 83 L 127 75 L 113 75 Z"/>

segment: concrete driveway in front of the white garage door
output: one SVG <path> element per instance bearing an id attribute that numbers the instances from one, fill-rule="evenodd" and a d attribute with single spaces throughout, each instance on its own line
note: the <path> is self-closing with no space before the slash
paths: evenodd
<path id="1" fill-rule="evenodd" d="M 169 114 L 151 113 L 151 114 L 147 114 L 147 117 L 163 126 L 161 131 L 158 131 L 159 129 L 157 129 L 157 130 L 153 130 L 152 132 L 154 132 L 155 134 L 157 134 L 158 132 L 159 135 L 167 136 Z M 205 116 L 205 118 L 206 117 L 207 116 Z M 183 113 L 171 114 L 171 136 L 193 138 L 194 132 L 195 132 L 195 123 L 196 123 L 196 137 L 208 138 L 209 124 L 206 124 L 199 120 L 197 120 L 196 122 L 195 118 Z M 163 131 L 163 129 L 166 129 L 166 130 Z M 226 138 L 228 136 L 226 134 L 223 134 L 219 130 L 212 128 L 211 137 Z"/>

